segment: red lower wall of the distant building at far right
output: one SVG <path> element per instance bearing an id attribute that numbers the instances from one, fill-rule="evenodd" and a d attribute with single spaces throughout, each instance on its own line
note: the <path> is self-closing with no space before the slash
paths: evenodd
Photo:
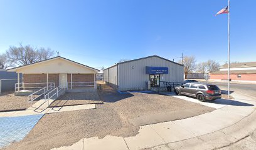
<path id="1" fill-rule="evenodd" d="M 230 74 L 232 80 L 256 81 L 256 74 L 241 74 L 241 78 L 237 78 L 237 74 Z M 228 79 L 227 74 L 210 74 L 210 79 Z"/>

